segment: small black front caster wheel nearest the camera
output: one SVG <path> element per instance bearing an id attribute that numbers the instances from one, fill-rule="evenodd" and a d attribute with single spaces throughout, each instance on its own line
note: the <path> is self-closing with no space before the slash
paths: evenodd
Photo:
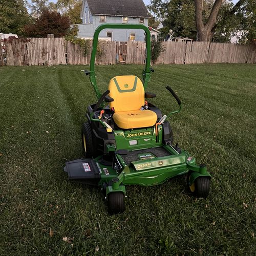
<path id="1" fill-rule="evenodd" d="M 124 194 L 112 192 L 108 195 L 108 206 L 110 214 L 121 214 L 124 210 Z"/>

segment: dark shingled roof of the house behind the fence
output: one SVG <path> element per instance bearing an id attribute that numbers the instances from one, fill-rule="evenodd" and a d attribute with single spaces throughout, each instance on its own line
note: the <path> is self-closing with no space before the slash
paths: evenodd
<path id="1" fill-rule="evenodd" d="M 83 0 L 83 6 L 84 2 Z M 87 0 L 92 14 L 123 16 L 123 17 L 150 17 L 143 0 Z"/>

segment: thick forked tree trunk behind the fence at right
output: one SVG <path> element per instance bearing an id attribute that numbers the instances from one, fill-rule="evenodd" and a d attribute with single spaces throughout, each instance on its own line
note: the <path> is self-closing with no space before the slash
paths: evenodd
<path id="1" fill-rule="evenodd" d="M 197 40 L 210 41 L 214 35 L 217 16 L 224 0 L 215 0 L 207 22 L 203 23 L 203 0 L 194 0 L 196 8 Z"/>

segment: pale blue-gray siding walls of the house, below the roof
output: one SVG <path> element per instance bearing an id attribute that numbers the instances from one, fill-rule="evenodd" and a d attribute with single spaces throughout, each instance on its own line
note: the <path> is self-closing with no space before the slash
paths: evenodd
<path id="1" fill-rule="evenodd" d="M 86 7 L 84 8 L 86 9 Z M 86 12 L 85 12 L 86 13 Z M 84 15 L 85 16 L 85 15 Z M 106 23 L 122 23 L 122 17 L 118 16 L 106 16 Z M 139 18 L 129 17 L 129 24 L 139 24 Z M 144 25 L 147 26 L 148 19 L 144 18 Z M 105 23 L 99 22 L 99 15 L 92 15 L 92 23 L 78 24 L 79 32 L 78 36 L 83 38 L 92 38 L 96 28 Z M 135 29 L 105 29 L 99 34 L 99 37 L 106 37 L 107 32 L 112 32 L 113 41 L 127 41 L 129 40 L 130 33 L 135 33 L 135 41 L 144 41 L 144 30 Z"/>

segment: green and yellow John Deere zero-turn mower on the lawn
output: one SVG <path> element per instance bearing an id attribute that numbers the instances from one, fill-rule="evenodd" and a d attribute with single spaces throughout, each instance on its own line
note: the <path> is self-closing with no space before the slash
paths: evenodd
<path id="1" fill-rule="evenodd" d="M 109 88 L 100 93 L 96 82 L 95 57 L 98 36 L 103 29 L 143 29 L 146 58 L 142 81 L 134 75 L 112 78 Z M 66 162 L 69 179 L 102 188 L 109 212 L 123 212 L 126 185 L 159 185 L 168 179 L 187 174 L 190 193 L 207 197 L 210 174 L 204 164 L 174 145 L 168 117 L 179 113 L 182 104 L 174 90 L 166 89 L 176 99 L 179 109 L 163 115 L 147 101 L 156 97 L 146 92 L 151 72 L 151 35 L 142 24 L 104 24 L 94 33 L 90 61 L 91 84 L 98 102 L 87 108 L 87 122 L 82 125 L 82 148 L 86 158 Z M 146 100 L 145 100 L 146 99 Z"/>

